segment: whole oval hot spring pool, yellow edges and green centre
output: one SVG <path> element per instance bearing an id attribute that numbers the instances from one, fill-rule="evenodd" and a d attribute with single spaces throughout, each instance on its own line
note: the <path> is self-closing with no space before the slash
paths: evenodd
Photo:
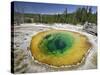
<path id="1" fill-rule="evenodd" d="M 91 47 L 85 35 L 54 29 L 34 35 L 30 51 L 38 62 L 61 67 L 81 63 Z"/>

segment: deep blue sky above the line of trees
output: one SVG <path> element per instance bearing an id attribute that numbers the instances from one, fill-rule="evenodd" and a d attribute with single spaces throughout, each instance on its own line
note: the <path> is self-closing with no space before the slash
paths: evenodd
<path id="1" fill-rule="evenodd" d="M 75 12 L 77 8 L 83 5 L 68 5 L 68 4 L 50 4 L 50 3 L 34 3 L 34 2 L 14 2 L 14 11 L 35 14 L 61 14 L 67 8 L 68 13 Z M 84 6 L 87 7 L 87 6 Z M 92 7 L 92 13 L 97 11 L 96 6 Z"/>

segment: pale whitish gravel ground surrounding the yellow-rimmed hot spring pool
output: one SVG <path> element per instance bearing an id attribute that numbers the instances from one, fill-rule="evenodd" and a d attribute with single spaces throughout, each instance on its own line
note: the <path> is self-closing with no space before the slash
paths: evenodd
<path id="1" fill-rule="evenodd" d="M 14 26 L 14 52 L 15 52 L 15 73 L 33 73 L 33 72 L 52 72 L 52 71 L 67 71 L 67 70 L 85 70 L 96 69 L 97 62 L 97 37 L 86 32 L 83 32 L 82 26 L 74 26 L 70 24 L 21 24 L 20 26 Z M 76 68 L 62 68 L 54 69 L 46 65 L 38 64 L 32 60 L 31 53 L 28 51 L 30 41 L 33 35 L 38 32 L 50 30 L 50 29 L 63 29 L 79 32 L 86 35 L 89 41 L 93 44 L 93 48 L 90 50 L 86 61 L 83 65 Z M 20 61 L 20 62 L 19 62 Z M 17 63 L 18 62 L 18 63 Z M 17 66 L 16 66 L 17 65 Z"/>

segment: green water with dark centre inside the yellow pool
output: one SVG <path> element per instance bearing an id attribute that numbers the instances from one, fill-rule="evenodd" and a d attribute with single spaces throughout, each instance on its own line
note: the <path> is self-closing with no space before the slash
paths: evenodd
<path id="1" fill-rule="evenodd" d="M 74 38 L 70 33 L 47 34 L 39 44 L 40 50 L 49 55 L 61 55 L 68 51 L 74 43 Z"/>

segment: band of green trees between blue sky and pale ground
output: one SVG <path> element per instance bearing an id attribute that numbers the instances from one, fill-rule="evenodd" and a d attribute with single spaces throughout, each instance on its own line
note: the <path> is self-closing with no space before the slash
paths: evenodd
<path id="1" fill-rule="evenodd" d="M 97 24 L 97 11 L 93 13 L 92 7 L 77 8 L 75 12 L 68 13 L 67 8 L 62 14 L 26 14 L 14 12 L 14 21 L 20 23 L 68 23 L 84 24 L 85 22 Z"/>

